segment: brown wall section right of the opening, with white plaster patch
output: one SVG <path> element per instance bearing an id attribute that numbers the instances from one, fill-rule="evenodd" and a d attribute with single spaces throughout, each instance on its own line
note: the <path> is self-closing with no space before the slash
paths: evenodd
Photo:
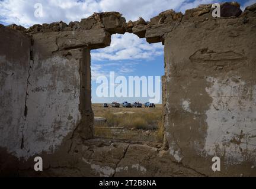
<path id="1" fill-rule="evenodd" d="M 206 175 L 255 176 L 255 16 L 198 17 L 165 37 L 169 152 Z M 216 156 L 220 172 L 212 170 Z"/>

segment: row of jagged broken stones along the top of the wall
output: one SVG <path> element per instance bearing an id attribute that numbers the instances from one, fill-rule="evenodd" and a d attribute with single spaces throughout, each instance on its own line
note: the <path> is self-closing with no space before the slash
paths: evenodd
<path id="1" fill-rule="evenodd" d="M 222 3 L 220 5 L 222 18 L 218 19 L 246 17 L 248 14 L 255 16 L 255 6 L 255 4 L 248 6 L 242 12 L 238 2 Z M 185 14 L 170 9 L 161 12 L 148 22 L 141 17 L 137 21 L 126 22 L 126 19 L 119 12 L 101 12 L 94 13 L 88 18 L 83 18 L 80 22 L 75 21 L 69 24 L 60 21 L 51 24 L 36 24 L 28 29 L 15 24 L 9 25 L 8 27 L 27 32 L 27 34 L 35 34 L 37 32 L 84 31 L 103 28 L 110 35 L 129 32 L 136 34 L 139 38 L 146 38 L 148 43 L 162 42 L 164 44 L 164 35 L 171 31 L 178 23 L 214 20 L 212 10 L 212 4 L 203 4 L 197 6 L 197 8 L 187 9 Z"/>

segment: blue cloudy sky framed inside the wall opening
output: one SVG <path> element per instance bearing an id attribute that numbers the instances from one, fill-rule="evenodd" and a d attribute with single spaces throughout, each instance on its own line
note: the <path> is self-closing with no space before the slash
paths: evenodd
<path id="1" fill-rule="evenodd" d="M 129 33 L 112 35 L 111 38 L 110 47 L 91 51 L 92 102 L 148 102 L 149 97 L 97 97 L 96 89 L 99 84 L 95 80 L 98 76 L 108 77 L 109 72 L 114 71 L 116 76 L 124 76 L 127 80 L 129 76 L 153 76 L 155 83 L 155 76 L 164 75 L 164 46 L 161 43 L 148 44 L 144 38 L 140 39 Z M 161 96 L 161 90 L 159 95 Z"/>

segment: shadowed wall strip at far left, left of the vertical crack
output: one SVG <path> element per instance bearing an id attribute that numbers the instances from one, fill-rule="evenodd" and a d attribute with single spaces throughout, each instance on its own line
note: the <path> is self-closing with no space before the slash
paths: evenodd
<path id="1" fill-rule="evenodd" d="M 31 39 L 5 27 L 0 27 L 0 38 L 0 148 L 18 155 L 24 142 Z"/>

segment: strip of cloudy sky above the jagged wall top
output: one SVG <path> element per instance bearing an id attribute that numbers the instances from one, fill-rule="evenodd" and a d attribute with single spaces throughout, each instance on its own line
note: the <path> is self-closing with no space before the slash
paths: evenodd
<path id="1" fill-rule="evenodd" d="M 30 27 L 55 21 L 80 21 L 94 12 L 119 11 L 128 20 L 143 17 L 146 20 L 167 9 L 183 11 L 207 4 L 212 0 L 4 0 L 0 1 L 1 22 Z M 249 1 L 255 2 L 255 1 Z M 43 17 L 34 17 L 34 5 L 43 5 Z"/>

